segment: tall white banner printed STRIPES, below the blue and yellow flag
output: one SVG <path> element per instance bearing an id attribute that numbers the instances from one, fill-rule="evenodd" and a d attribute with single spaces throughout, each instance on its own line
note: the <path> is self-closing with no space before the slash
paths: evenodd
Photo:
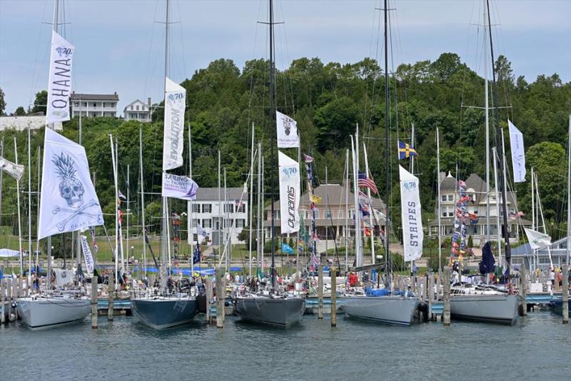
<path id="1" fill-rule="evenodd" d="M 403 218 L 405 260 L 417 260 L 423 255 L 423 220 L 420 215 L 420 186 L 418 177 L 399 166 L 400 210 Z"/>

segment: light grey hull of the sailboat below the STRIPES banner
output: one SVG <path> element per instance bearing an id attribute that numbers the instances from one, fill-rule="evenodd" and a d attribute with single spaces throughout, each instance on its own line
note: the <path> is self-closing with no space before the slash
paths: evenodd
<path id="1" fill-rule="evenodd" d="M 417 298 L 355 296 L 343 298 L 341 308 L 349 317 L 393 325 L 410 325 L 417 306 Z"/>

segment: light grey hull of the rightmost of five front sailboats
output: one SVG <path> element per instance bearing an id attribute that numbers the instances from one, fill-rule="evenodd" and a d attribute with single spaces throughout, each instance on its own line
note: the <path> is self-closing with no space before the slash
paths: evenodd
<path id="1" fill-rule="evenodd" d="M 514 324 L 517 295 L 452 295 L 450 315 L 456 319 Z"/>

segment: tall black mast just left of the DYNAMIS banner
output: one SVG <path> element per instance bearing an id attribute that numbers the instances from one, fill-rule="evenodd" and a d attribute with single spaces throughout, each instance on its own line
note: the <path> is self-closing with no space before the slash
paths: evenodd
<path id="1" fill-rule="evenodd" d="M 271 142 L 270 142 L 270 146 L 271 146 L 271 175 L 270 175 L 270 182 L 271 182 L 271 187 L 270 187 L 270 195 L 271 195 L 271 241 L 272 241 L 272 267 L 271 267 L 271 273 L 272 273 L 272 289 L 276 287 L 276 223 L 274 222 L 274 218 L 275 218 L 275 213 L 276 213 L 276 207 L 274 204 L 276 196 L 274 195 L 274 188 L 276 188 L 276 158 L 275 156 L 275 148 L 274 145 L 276 144 L 276 138 L 275 138 L 275 134 L 277 133 L 276 131 L 276 93 L 274 91 L 274 64 L 273 64 L 273 60 L 274 60 L 274 46 L 273 46 L 273 0 L 269 0 L 270 1 L 270 121 L 271 121 L 271 128 L 270 131 L 273 131 L 270 133 L 271 136 Z"/>

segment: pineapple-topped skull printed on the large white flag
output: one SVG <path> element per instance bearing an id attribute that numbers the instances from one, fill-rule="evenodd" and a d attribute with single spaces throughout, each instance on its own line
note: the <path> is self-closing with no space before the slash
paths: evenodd
<path id="1" fill-rule="evenodd" d="M 79 208 L 84 203 L 84 184 L 76 177 L 74 160 L 65 151 L 54 155 L 51 162 L 56 166 L 59 177 L 59 195 L 70 208 Z"/>

